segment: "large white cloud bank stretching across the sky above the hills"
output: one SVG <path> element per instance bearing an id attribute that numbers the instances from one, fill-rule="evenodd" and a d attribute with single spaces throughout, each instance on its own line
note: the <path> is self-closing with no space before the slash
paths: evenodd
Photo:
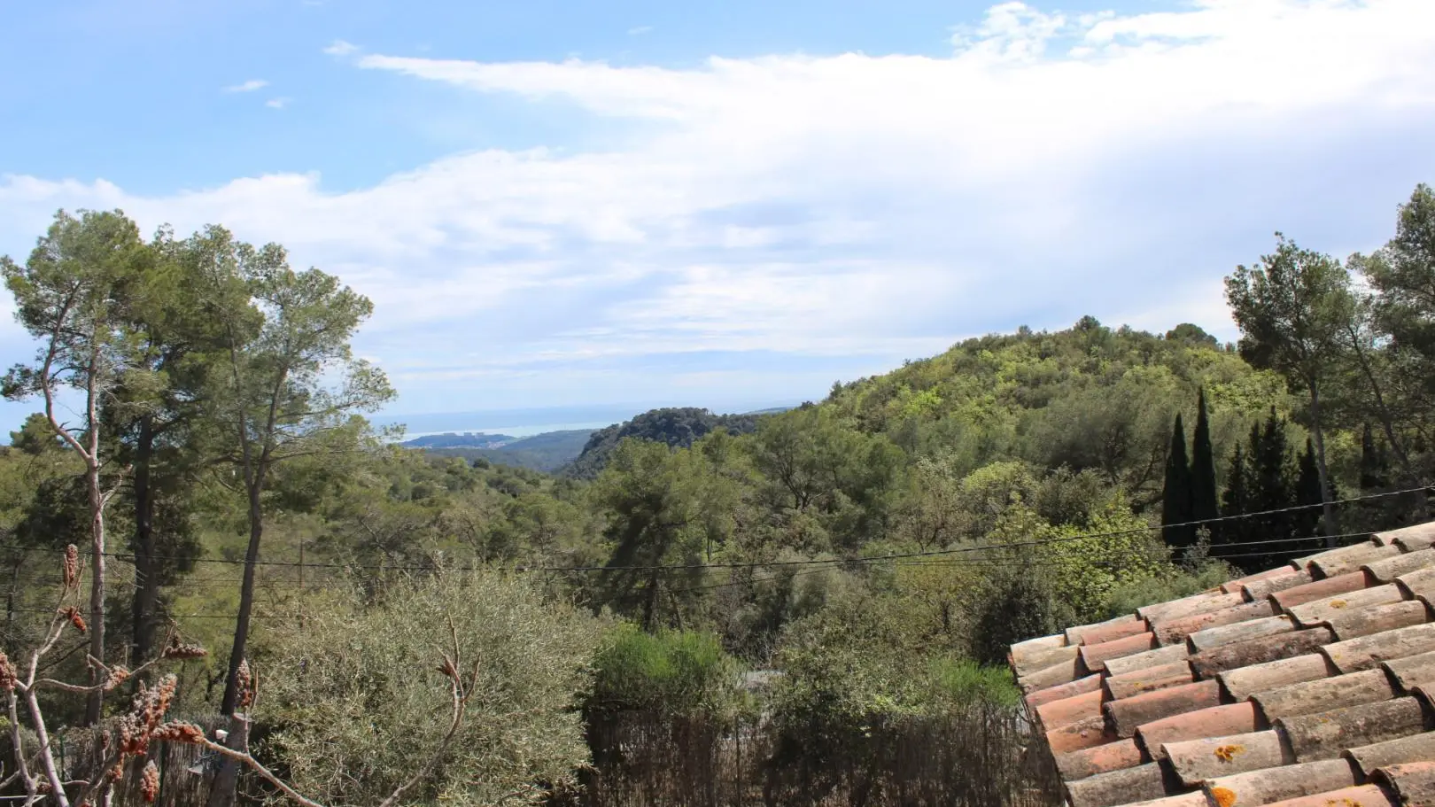
<path id="1" fill-rule="evenodd" d="M 62 204 L 123 207 L 145 227 L 222 221 L 373 296 L 363 349 L 410 366 L 416 389 L 488 373 L 547 395 L 561 379 L 525 373 L 607 368 L 607 386 L 568 392 L 596 399 L 663 389 L 676 376 L 640 365 L 674 353 L 692 356 L 684 378 L 725 385 L 705 356 L 785 356 L 792 379 L 819 362 L 825 388 L 1083 313 L 1228 337 L 1220 277 L 1271 230 L 1375 246 L 1435 175 L 1429 0 L 1085 16 L 1003 3 L 953 46 L 695 69 L 362 55 L 369 70 L 621 118 L 629 138 L 455 154 L 349 192 L 293 174 L 164 197 L 14 177 L 0 221 L 33 237 Z"/>

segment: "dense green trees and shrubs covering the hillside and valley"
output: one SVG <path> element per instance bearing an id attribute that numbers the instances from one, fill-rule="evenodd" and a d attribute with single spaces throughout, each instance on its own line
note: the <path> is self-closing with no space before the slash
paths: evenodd
<path id="1" fill-rule="evenodd" d="M 937 727 L 980 715 L 1013 742 L 983 748 L 1015 748 L 992 728 L 1016 702 L 1010 642 L 1426 518 L 1424 494 L 1382 494 L 1435 477 L 1424 185 L 1372 256 L 1280 238 L 1234 269 L 1236 345 L 1191 323 L 1020 327 L 786 412 L 649 412 L 558 475 L 379 441 L 354 414 L 389 388 L 347 347 L 367 300 L 278 247 L 62 215 L 3 269 L 40 346 L 7 393 L 95 405 L 0 451 L 0 646 L 22 658 L 44 630 L 66 544 L 108 557 L 95 630 L 65 648 L 133 666 L 175 626 L 211 649 L 179 669 L 188 714 L 243 705 L 253 661 L 265 758 L 343 803 L 415 771 L 412 803 L 610 787 L 639 775 L 633 715 L 663 742 L 761 727 L 776 803 L 880 793 L 893 748 L 973 745 Z M 466 666 L 430 669 L 439 652 Z M 76 650 L 56 673 L 100 672 Z M 43 706 L 80 725 L 125 699 Z"/>

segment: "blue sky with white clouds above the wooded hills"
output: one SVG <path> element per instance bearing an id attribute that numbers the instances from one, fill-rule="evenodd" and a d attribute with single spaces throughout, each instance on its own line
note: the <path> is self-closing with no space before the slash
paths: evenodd
<path id="1" fill-rule="evenodd" d="M 373 299 L 397 415 L 1234 339 L 1277 230 L 1369 251 L 1435 181 L 1431 0 L 69 0 L 0 46 L 0 254 L 60 208 L 278 241 Z"/>

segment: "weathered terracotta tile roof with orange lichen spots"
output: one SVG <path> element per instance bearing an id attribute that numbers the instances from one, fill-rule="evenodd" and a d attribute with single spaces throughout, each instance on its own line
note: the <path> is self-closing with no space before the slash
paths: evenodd
<path id="1" fill-rule="evenodd" d="M 1012 645 L 1072 807 L 1435 807 L 1435 523 Z"/>

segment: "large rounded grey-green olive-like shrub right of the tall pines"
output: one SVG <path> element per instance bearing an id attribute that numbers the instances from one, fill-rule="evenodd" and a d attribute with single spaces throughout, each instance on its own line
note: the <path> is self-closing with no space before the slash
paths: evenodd
<path id="1" fill-rule="evenodd" d="M 369 607 L 334 602 L 273 636 L 277 661 L 261 671 L 261 705 L 276 704 L 278 724 L 270 750 L 326 803 L 377 803 L 435 758 L 409 803 L 538 801 L 588 760 L 574 706 L 600 633 L 525 579 L 485 570 L 410 580 Z M 436 666 L 455 642 L 475 685 L 445 745 L 449 679 Z"/>

